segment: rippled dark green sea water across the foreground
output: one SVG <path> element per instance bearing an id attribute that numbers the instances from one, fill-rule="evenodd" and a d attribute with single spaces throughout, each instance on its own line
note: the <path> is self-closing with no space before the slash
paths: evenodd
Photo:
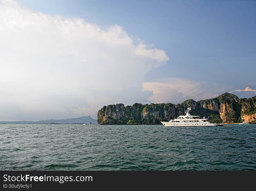
<path id="1" fill-rule="evenodd" d="M 256 170 L 256 125 L 0 125 L 0 170 Z"/>

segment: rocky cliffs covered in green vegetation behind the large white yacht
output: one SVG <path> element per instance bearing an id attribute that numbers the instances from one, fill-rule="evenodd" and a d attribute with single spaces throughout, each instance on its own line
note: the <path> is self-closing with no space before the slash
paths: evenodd
<path id="1" fill-rule="evenodd" d="M 192 115 L 209 116 L 211 122 L 253 122 L 256 117 L 256 96 L 239 100 L 236 95 L 226 92 L 216 98 L 198 102 L 189 99 L 177 105 L 134 103 L 125 107 L 120 103 L 101 108 L 98 112 L 98 124 L 161 124 L 161 120 L 169 121 L 184 115 L 188 107 L 192 108 Z"/>

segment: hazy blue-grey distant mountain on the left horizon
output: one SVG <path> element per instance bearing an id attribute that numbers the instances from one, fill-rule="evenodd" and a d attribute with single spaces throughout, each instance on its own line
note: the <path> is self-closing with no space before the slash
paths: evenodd
<path id="1" fill-rule="evenodd" d="M 86 124 L 96 124 L 97 120 L 92 119 L 91 116 L 84 116 L 79 118 L 71 118 L 71 119 L 49 119 L 42 121 L 1 121 L 0 124 L 78 124 L 78 123 L 86 123 Z"/>

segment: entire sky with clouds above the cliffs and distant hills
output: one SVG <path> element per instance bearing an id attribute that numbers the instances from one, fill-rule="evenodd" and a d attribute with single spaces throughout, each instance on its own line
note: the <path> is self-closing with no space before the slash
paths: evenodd
<path id="1" fill-rule="evenodd" d="M 0 121 L 256 95 L 256 1 L 0 0 Z"/>

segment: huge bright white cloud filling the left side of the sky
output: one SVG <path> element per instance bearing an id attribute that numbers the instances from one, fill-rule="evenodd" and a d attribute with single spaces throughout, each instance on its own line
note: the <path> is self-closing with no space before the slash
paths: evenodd
<path id="1" fill-rule="evenodd" d="M 121 26 L 104 30 L 10 0 L 0 1 L 0 42 L 0 120 L 95 118 L 106 104 L 145 103 L 145 74 L 169 60 Z"/>

